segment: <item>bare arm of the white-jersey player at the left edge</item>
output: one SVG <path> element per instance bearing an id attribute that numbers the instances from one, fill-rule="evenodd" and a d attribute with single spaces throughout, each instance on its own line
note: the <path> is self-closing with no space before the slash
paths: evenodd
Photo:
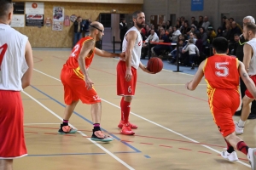
<path id="1" fill-rule="evenodd" d="M 21 78 L 22 88 L 26 88 L 30 85 L 32 79 L 32 71 L 33 71 L 33 56 L 32 56 L 32 48 L 29 41 L 26 42 L 25 48 L 25 59 L 26 65 L 28 66 L 27 71 L 24 73 Z"/>

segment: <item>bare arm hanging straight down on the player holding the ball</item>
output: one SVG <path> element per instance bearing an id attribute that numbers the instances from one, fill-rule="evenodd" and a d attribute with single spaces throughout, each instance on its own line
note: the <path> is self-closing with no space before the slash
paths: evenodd
<path id="1" fill-rule="evenodd" d="M 132 73 L 131 73 L 131 53 L 132 48 L 135 46 L 135 42 L 137 39 L 137 32 L 136 31 L 129 31 L 126 35 L 127 40 L 127 47 L 125 51 L 125 64 L 126 64 L 126 72 L 125 72 L 125 80 L 127 82 L 131 81 Z"/>

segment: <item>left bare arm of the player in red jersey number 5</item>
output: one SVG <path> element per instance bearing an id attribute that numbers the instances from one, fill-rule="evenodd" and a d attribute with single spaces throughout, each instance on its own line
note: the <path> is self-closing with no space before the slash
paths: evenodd
<path id="1" fill-rule="evenodd" d="M 204 67 L 205 63 L 206 63 L 206 60 L 203 60 L 201 62 L 201 64 L 199 65 L 198 70 L 196 71 L 195 77 L 193 78 L 193 80 L 186 83 L 186 87 L 189 90 L 191 90 L 191 91 L 195 90 L 195 88 L 198 86 L 199 82 L 201 82 L 201 78 L 204 76 L 203 67 Z"/>

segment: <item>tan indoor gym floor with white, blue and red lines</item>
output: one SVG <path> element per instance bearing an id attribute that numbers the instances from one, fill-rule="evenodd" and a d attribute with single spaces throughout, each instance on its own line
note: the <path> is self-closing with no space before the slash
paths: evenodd
<path id="1" fill-rule="evenodd" d="M 120 134 L 115 70 L 119 59 L 114 58 L 96 56 L 89 75 L 102 98 L 102 130 L 115 140 L 101 143 L 88 138 L 90 105 L 80 102 L 70 119 L 79 132 L 58 134 L 65 107 L 60 73 L 69 54 L 33 50 L 32 84 L 21 93 L 28 156 L 15 159 L 15 170 L 250 169 L 247 156 L 239 151 L 240 161 L 234 163 L 219 155 L 225 142 L 212 121 L 206 82 L 202 80 L 194 92 L 184 86 L 193 75 L 168 70 L 150 75 L 139 69 L 130 116 L 138 129 L 134 136 Z M 251 147 L 256 147 L 255 121 L 248 120 L 240 136 Z"/>

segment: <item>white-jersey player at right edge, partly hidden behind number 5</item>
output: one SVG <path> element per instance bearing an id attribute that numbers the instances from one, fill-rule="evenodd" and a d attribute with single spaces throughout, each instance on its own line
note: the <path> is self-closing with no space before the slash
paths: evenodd
<path id="1" fill-rule="evenodd" d="M 252 22 L 247 22 L 243 27 L 243 37 L 246 42 L 243 46 L 243 64 L 247 70 L 248 75 L 256 84 L 256 25 Z M 253 101 L 253 95 L 246 90 L 244 97 L 242 98 L 241 117 L 238 123 L 236 123 L 236 133 L 243 133 L 245 122 L 251 111 L 251 102 Z"/>

